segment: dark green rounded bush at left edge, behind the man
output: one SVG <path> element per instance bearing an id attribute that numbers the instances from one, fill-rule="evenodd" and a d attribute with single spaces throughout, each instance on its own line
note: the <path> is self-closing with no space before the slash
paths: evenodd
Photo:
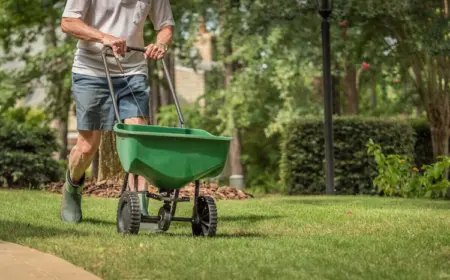
<path id="1" fill-rule="evenodd" d="M 52 158 L 58 150 L 54 131 L 42 122 L 42 114 L 23 110 L 0 119 L 0 186 L 37 188 L 62 175 Z"/>

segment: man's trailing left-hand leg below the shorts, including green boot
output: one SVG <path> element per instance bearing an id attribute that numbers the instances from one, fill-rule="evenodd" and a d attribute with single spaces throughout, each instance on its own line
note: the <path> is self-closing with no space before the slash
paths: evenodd
<path id="1" fill-rule="evenodd" d="M 85 171 L 100 145 L 100 131 L 79 131 L 77 144 L 69 157 L 69 170 L 62 189 L 61 220 L 78 223 L 82 220 L 81 193 Z"/>

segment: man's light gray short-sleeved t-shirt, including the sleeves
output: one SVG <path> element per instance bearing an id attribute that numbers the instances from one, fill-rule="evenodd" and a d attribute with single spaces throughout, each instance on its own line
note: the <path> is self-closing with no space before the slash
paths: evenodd
<path id="1" fill-rule="evenodd" d="M 125 39 L 128 46 L 144 47 L 147 17 L 155 30 L 174 25 L 169 0 L 67 0 L 63 17 L 82 19 L 104 33 Z M 101 43 L 79 40 L 72 72 L 105 77 Z M 147 60 L 141 52 L 128 52 L 119 58 L 125 75 L 147 75 Z M 120 76 L 113 57 L 108 57 L 111 76 Z"/>

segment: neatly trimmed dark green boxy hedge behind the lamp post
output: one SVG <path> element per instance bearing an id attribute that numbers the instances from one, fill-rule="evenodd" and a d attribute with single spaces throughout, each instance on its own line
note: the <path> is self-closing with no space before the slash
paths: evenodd
<path id="1" fill-rule="evenodd" d="M 338 117 L 333 121 L 335 187 L 340 194 L 374 193 L 375 162 L 367 155 L 369 139 L 387 153 L 414 154 L 412 126 L 395 119 Z M 321 118 L 292 121 L 281 143 L 280 177 L 289 194 L 325 190 L 324 123 Z"/>

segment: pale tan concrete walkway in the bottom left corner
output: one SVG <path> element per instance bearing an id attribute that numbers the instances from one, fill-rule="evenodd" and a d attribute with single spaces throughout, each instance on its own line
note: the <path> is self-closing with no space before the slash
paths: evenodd
<path id="1" fill-rule="evenodd" d="M 0 280 L 99 280 L 100 278 L 50 254 L 0 240 Z"/>

